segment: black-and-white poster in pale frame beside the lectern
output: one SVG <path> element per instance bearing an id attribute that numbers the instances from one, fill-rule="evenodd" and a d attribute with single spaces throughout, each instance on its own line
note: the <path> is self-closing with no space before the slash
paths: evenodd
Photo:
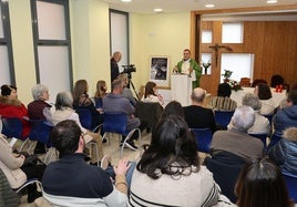
<path id="1" fill-rule="evenodd" d="M 158 86 L 170 86 L 170 58 L 151 56 L 150 58 L 150 81 L 155 82 Z"/>

